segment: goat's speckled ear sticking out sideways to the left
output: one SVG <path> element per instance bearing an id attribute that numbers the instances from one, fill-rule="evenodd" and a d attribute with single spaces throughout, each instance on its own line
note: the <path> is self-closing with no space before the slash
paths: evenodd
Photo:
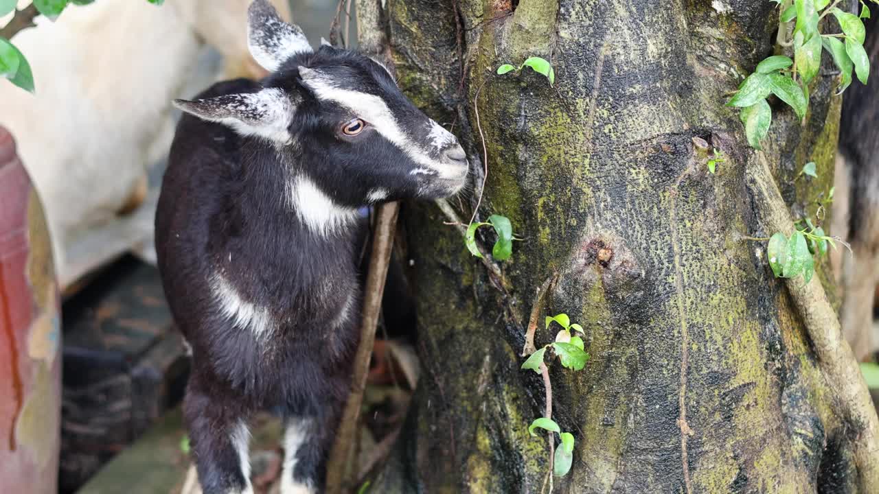
<path id="1" fill-rule="evenodd" d="M 200 119 L 228 125 L 238 134 L 290 142 L 288 127 L 293 120 L 295 105 L 287 93 L 277 88 L 194 101 L 175 99 L 174 105 Z"/>

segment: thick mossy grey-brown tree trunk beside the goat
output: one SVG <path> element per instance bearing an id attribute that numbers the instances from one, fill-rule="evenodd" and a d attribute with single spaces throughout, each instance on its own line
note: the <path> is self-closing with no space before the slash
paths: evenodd
<path id="1" fill-rule="evenodd" d="M 857 491 L 863 425 L 839 411 L 766 243 L 744 238 L 775 232 L 724 103 L 781 50 L 775 4 L 388 0 L 385 13 L 401 87 L 454 125 L 478 170 L 482 127 L 477 219 L 504 214 L 524 241 L 492 272 L 438 207 L 405 208 L 425 377 L 374 491 L 548 491 L 546 435 L 527 431 L 543 381 L 519 367 L 535 295 L 556 274 L 535 343 L 555 335 L 544 316 L 565 312 L 592 358 L 579 372 L 549 364 L 553 418 L 576 439 L 553 492 Z M 495 75 L 530 55 L 552 62 L 554 87 L 530 69 Z M 764 142 L 794 218 L 814 218 L 832 185 L 828 62 L 805 124 L 775 101 Z M 808 161 L 818 178 L 795 178 Z M 469 199 L 450 201 L 463 222 Z"/>

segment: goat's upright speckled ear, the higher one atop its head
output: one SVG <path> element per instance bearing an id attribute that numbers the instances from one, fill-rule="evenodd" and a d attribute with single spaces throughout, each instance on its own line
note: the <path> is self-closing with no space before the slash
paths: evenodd
<path id="1" fill-rule="evenodd" d="M 247 41 L 253 58 L 270 72 L 294 54 L 314 51 L 300 27 L 284 22 L 266 0 L 254 0 L 247 10 Z"/>

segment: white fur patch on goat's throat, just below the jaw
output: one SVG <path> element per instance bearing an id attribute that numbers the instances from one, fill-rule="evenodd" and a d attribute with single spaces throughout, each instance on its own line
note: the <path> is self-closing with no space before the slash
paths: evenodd
<path id="1" fill-rule="evenodd" d="M 318 235 L 329 236 L 357 219 L 356 208 L 339 206 L 309 178 L 294 177 L 288 195 L 301 221 Z"/>

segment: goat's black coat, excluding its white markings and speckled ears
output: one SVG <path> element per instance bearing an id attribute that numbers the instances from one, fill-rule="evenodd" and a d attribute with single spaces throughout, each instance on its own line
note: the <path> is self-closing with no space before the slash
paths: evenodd
<path id="1" fill-rule="evenodd" d="M 262 84 L 238 79 L 199 95 L 283 89 L 298 102 L 294 142 L 283 149 L 189 114 L 180 120 L 156 213 L 156 252 L 171 312 L 193 349 L 184 412 L 205 494 L 246 486 L 229 438 L 254 410 L 309 418 L 293 476 L 320 490 L 347 396 L 360 335 L 356 242 L 362 232 L 309 230 L 286 200 L 290 178 L 306 175 L 347 207 L 366 205 L 376 187 L 389 191 L 388 200 L 449 193 L 433 175 L 411 175 L 416 165 L 377 132 L 339 135 L 340 123 L 357 115 L 314 98 L 301 85 L 299 65 L 380 94 L 410 128 L 430 121 L 380 65 L 331 47 L 294 56 Z M 460 149 L 457 142 L 450 147 Z M 269 338 L 258 341 L 220 311 L 210 281 L 218 273 L 279 323 Z M 349 295 L 354 307 L 330 328 Z"/>

